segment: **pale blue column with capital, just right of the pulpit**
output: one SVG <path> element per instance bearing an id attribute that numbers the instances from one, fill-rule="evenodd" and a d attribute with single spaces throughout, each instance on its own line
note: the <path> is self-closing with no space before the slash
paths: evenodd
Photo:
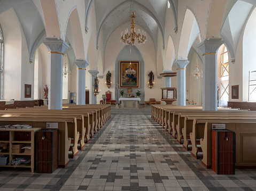
<path id="1" fill-rule="evenodd" d="M 186 105 L 186 67 L 188 60 L 176 60 L 174 62 L 177 68 L 177 105 Z"/>

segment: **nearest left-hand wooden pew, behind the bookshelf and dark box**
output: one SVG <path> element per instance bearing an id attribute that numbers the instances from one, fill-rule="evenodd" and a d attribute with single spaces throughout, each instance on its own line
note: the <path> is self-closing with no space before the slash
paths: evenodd
<path id="1" fill-rule="evenodd" d="M 61 121 L 60 119 L 53 118 L 25 118 L 25 117 L 0 117 L 0 125 L 14 125 L 14 124 L 29 124 L 33 127 L 46 129 L 47 122 L 58 123 L 59 129 L 59 150 L 58 150 L 58 167 L 65 168 L 69 163 L 68 151 L 71 145 L 71 138 L 67 135 L 67 121 L 72 122 L 73 120 L 67 119 Z"/>

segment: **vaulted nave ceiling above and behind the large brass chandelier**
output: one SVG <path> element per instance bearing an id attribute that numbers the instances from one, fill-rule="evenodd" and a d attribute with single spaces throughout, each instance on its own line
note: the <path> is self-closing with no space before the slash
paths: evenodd
<path id="1" fill-rule="evenodd" d="M 131 11 L 133 10 L 137 16 L 135 19 L 136 29 L 144 28 L 148 34 L 150 33 L 155 43 L 157 41 L 158 28 L 162 37 L 164 36 L 167 0 L 140 0 L 134 1 L 134 4 L 132 2 L 130 0 L 95 0 L 97 33 L 99 35 L 100 30 L 103 30 L 104 43 L 116 28 L 122 23 L 130 21 Z M 141 27 L 138 27 L 138 25 Z M 127 27 L 130 29 L 130 26 Z"/>

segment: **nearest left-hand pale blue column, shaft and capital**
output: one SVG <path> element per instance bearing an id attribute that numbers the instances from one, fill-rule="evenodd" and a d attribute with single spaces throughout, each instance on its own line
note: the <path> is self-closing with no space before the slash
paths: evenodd
<path id="1" fill-rule="evenodd" d="M 48 109 L 62 110 L 63 53 L 69 46 L 60 38 L 46 37 L 49 50 Z"/>

